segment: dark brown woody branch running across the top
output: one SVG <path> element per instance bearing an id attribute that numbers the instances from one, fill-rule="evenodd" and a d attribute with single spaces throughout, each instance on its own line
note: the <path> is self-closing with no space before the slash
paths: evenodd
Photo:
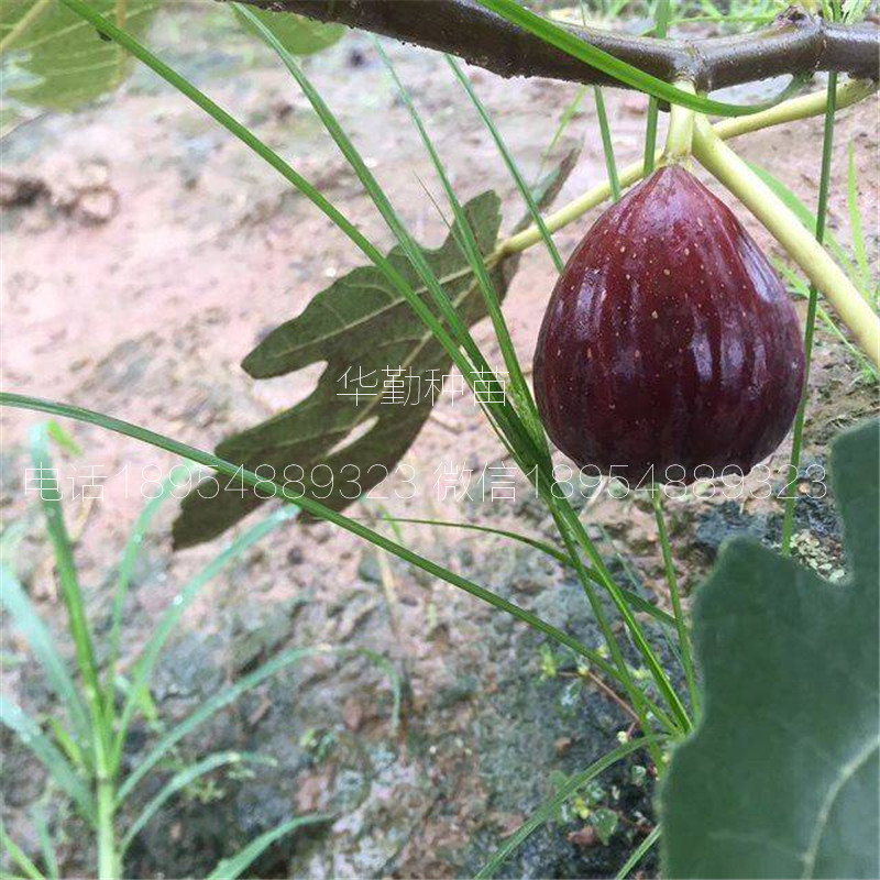
<path id="1" fill-rule="evenodd" d="M 504 77 L 540 76 L 619 85 L 483 8 L 477 0 L 242 0 L 277 12 L 384 34 L 448 52 Z M 653 76 L 688 77 L 697 90 L 771 76 L 837 70 L 880 78 L 880 31 L 845 25 L 789 8 L 771 25 L 736 36 L 654 40 L 572 28 L 593 46 Z"/>

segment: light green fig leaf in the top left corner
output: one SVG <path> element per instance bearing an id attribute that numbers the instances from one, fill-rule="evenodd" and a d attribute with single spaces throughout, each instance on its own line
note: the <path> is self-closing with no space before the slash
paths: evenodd
<path id="1" fill-rule="evenodd" d="M 142 37 L 162 0 L 90 0 Z M 48 110 L 73 110 L 116 89 L 133 58 L 57 0 L 0 0 L 2 92 Z"/>

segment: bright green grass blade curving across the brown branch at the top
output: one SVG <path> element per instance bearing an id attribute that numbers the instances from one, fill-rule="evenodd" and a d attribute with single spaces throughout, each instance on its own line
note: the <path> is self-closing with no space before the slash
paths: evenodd
<path id="1" fill-rule="evenodd" d="M 507 19 L 507 21 L 539 36 L 544 42 L 554 45 L 572 57 L 588 64 L 596 70 L 607 74 L 619 82 L 624 82 L 639 91 L 652 95 L 654 98 L 660 98 L 670 103 L 678 103 L 690 110 L 696 110 L 700 113 L 714 113 L 721 117 L 740 117 L 757 113 L 791 97 L 791 95 L 795 90 L 799 90 L 803 82 L 806 81 L 806 77 L 798 77 L 791 86 L 784 89 L 774 100 L 759 105 L 745 106 L 714 101 L 710 98 L 701 98 L 696 95 L 683 91 L 682 89 L 678 89 L 656 76 L 646 74 L 637 67 L 632 67 L 626 62 L 615 58 L 604 50 L 585 43 L 571 31 L 560 28 L 558 24 L 553 24 L 551 21 L 520 7 L 515 0 L 477 0 L 477 2 L 497 13 L 503 19 Z"/>

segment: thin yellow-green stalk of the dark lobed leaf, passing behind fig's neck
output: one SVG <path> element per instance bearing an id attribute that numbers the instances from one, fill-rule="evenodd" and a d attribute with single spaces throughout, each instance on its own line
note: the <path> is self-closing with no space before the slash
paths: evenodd
<path id="1" fill-rule="evenodd" d="M 877 91 L 877 88 L 878 85 L 871 80 L 848 80 L 837 89 L 837 109 L 843 110 L 845 107 L 858 103 L 858 101 L 864 100 L 869 95 Z M 781 125 L 783 123 L 796 122 L 801 119 L 818 116 L 825 112 L 827 94 L 825 91 L 817 91 L 813 95 L 802 95 L 798 98 L 782 101 L 776 107 L 771 107 L 769 110 L 763 110 L 760 113 L 736 119 L 726 119 L 714 125 L 714 131 L 718 138 L 723 140 L 738 138 L 740 134 L 760 131 L 761 129 L 767 129 L 772 125 Z M 661 153 L 658 151 L 656 160 L 659 158 L 661 158 Z M 645 163 L 642 161 L 634 162 L 631 165 L 627 165 L 625 168 L 620 169 L 620 186 L 630 186 L 637 180 L 640 180 L 644 175 Z M 579 196 L 573 201 L 564 205 L 558 211 L 544 217 L 544 224 L 550 232 L 556 232 L 592 210 L 597 205 L 602 205 L 610 195 L 612 190 L 607 182 L 598 184 L 587 189 L 586 193 Z M 490 255 L 488 262 L 491 265 L 494 265 L 505 256 L 526 251 L 532 245 L 538 244 L 541 240 L 541 231 L 538 227 L 530 226 L 501 242 L 495 252 Z"/>

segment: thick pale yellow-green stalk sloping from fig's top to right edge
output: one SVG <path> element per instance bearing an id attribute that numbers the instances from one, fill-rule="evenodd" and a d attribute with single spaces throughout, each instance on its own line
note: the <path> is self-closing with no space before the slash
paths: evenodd
<path id="1" fill-rule="evenodd" d="M 825 295 L 871 363 L 880 366 L 880 317 L 814 234 L 722 141 L 702 116 L 695 120 L 693 148 L 703 167 L 761 221 L 811 283 Z"/>

